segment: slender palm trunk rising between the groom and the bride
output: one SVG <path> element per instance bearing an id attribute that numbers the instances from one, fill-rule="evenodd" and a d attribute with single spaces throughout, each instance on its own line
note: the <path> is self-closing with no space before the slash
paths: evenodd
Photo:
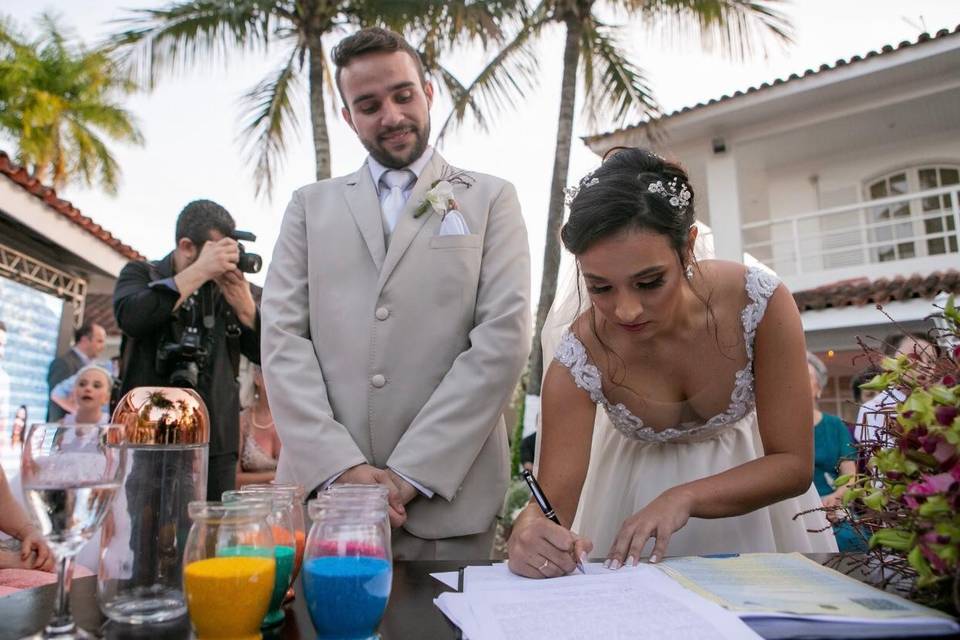
<path id="1" fill-rule="evenodd" d="M 577 65 L 580 63 L 580 18 L 572 11 L 564 18 L 567 38 L 563 46 L 563 80 L 560 85 L 560 117 L 557 122 L 557 147 L 553 156 L 553 177 L 550 180 L 550 205 L 547 211 L 547 237 L 543 247 L 543 276 L 540 279 L 540 300 L 537 303 L 537 322 L 530 350 L 530 379 L 527 395 L 540 395 L 543 378 L 543 350 L 540 332 L 547 312 L 557 293 L 557 274 L 560 270 L 560 226 L 563 224 L 563 189 L 567 186 L 570 167 L 570 143 L 573 139 L 573 108 L 577 101 Z"/>

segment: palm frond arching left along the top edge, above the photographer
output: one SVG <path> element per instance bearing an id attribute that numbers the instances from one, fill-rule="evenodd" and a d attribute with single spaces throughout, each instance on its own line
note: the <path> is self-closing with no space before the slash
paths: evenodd
<path id="1" fill-rule="evenodd" d="M 152 88 L 163 72 L 226 61 L 236 51 L 263 50 L 271 38 L 277 3 L 191 0 L 164 9 L 138 9 L 114 21 L 121 31 L 106 46 Z"/>

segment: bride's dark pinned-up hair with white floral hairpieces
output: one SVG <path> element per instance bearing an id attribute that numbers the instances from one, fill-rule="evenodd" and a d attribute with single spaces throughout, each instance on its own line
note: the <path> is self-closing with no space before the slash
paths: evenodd
<path id="1" fill-rule="evenodd" d="M 684 251 L 694 222 L 694 194 L 687 172 L 646 149 L 620 147 L 613 151 L 585 178 L 573 198 L 570 217 L 560 230 L 563 246 L 578 256 L 602 238 L 627 230 L 652 231 L 669 239 L 685 268 Z M 685 207 L 674 206 L 669 197 L 650 191 L 651 184 L 669 185 L 674 179 L 677 190 L 685 186 L 690 193 Z"/>

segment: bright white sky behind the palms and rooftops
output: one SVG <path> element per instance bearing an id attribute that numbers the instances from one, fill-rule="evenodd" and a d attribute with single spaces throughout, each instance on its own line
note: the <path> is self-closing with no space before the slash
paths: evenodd
<path id="1" fill-rule="evenodd" d="M 40 11 L 58 13 L 64 25 L 92 43 L 114 28 L 109 21 L 128 16 L 128 9 L 165 4 L 157 0 L 5 0 L 0 13 L 26 29 Z M 655 30 L 639 24 L 624 24 L 623 42 L 631 59 L 646 72 L 663 109 L 670 112 L 885 44 L 915 40 L 923 30 L 933 33 L 960 24 L 960 3 L 955 0 L 796 0 L 783 9 L 794 26 L 794 43 L 775 46 L 765 56 L 746 62 L 705 52 L 696 39 L 665 42 Z M 326 46 L 336 44 L 339 37 L 331 37 Z M 560 30 L 548 32 L 538 50 L 540 84 L 518 108 L 501 112 L 489 132 L 468 122 L 439 147 L 456 166 L 496 174 L 516 185 L 530 237 L 533 300 L 540 283 L 559 109 Z M 449 64 L 466 82 L 493 53 L 465 51 L 452 55 Z M 238 99 L 278 66 L 282 54 L 234 53 L 226 60 L 167 76 L 153 92 L 128 98 L 125 106 L 136 115 L 146 143 L 111 146 L 123 172 L 117 195 L 74 185 L 58 193 L 150 258 L 162 257 L 173 248 L 180 209 L 191 200 L 210 198 L 233 214 L 238 228 L 258 236 L 247 248 L 261 253 L 268 264 L 290 194 L 314 179 L 307 100 L 300 96 L 299 135 L 291 139 L 273 198 L 268 200 L 254 196 L 252 172 L 241 158 Z M 447 107 L 443 100 L 434 102 L 434 136 Z M 334 175 L 355 171 L 366 152 L 339 113 L 330 111 L 328 118 Z M 599 130 L 612 128 L 612 123 L 602 123 Z M 580 140 L 596 132 L 586 118 L 578 119 L 568 183 L 598 164 L 599 159 Z M 12 144 L 0 139 L 0 148 L 10 151 Z M 254 282 L 262 284 L 266 264 L 251 277 Z"/>

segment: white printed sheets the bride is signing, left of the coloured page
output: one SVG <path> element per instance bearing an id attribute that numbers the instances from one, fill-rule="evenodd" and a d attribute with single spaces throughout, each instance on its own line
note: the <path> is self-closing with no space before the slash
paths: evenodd
<path id="1" fill-rule="evenodd" d="M 464 593 L 441 594 L 436 603 L 469 640 L 759 637 L 732 613 L 652 567 L 587 570 L 531 580 L 506 565 L 468 567 Z"/>

